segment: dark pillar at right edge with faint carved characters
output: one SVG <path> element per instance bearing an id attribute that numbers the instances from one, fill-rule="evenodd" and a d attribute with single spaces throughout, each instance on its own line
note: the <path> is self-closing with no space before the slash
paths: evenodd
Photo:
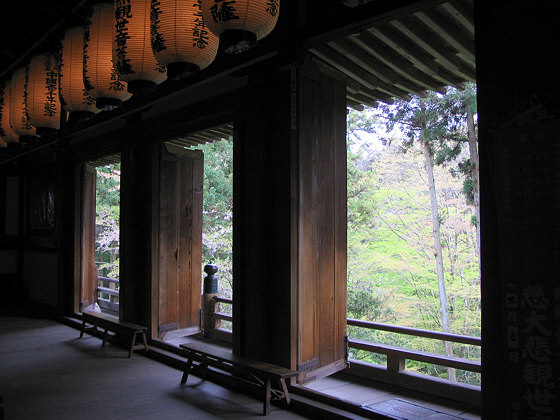
<path id="1" fill-rule="evenodd" d="M 485 418 L 558 418 L 560 121 L 552 4 L 475 2 Z"/>

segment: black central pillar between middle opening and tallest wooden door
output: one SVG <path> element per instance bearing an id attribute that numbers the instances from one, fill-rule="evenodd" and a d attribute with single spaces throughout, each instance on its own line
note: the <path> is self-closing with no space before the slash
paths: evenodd
<path id="1" fill-rule="evenodd" d="M 290 73 L 267 76 L 234 125 L 233 343 L 240 355 L 290 366 Z"/>

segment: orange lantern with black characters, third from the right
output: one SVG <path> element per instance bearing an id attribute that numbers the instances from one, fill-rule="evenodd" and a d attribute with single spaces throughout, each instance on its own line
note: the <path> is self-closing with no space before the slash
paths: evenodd
<path id="1" fill-rule="evenodd" d="M 132 94 L 154 91 L 167 75 L 152 52 L 151 0 L 115 0 L 113 63 Z"/>

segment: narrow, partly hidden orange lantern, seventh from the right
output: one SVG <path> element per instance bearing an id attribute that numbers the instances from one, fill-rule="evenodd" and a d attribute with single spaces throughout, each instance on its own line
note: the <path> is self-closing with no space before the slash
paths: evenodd
<path id="1" fill-rule="evenodd" d="M 22 143 L 37 139 L 37 130 L 31 125 L 27 112 L 28 88 L 29 66 L 25 66 L 14 72 L 10 95 L 10 124 Z"/>

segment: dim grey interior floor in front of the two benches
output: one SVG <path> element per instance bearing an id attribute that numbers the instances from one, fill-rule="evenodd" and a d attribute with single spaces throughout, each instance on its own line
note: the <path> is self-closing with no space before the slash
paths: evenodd
<path id="1" fill-rule="evenodd" d="M 0 316 L 6 419 L 262 419 L 262 402 L 45 319 Z M 267 418 L 305 417 L 273 406 Z"/>

